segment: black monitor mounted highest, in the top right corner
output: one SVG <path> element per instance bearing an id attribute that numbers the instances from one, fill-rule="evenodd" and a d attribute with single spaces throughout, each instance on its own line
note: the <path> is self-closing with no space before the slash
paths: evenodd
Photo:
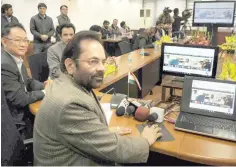
<path id="1" fill-rule="evenodd" d="M 235 1 L 197 1 L 193 8 L 193 26 L 233 27 Z"/>

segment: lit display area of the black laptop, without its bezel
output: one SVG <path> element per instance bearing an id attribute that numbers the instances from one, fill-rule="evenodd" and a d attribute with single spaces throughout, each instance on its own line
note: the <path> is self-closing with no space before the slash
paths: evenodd
<path id="1" fill-rule="evenodd" d="M 193 80 L 189 107 L 233 115 L 235 88 L 235 84 Z"/>

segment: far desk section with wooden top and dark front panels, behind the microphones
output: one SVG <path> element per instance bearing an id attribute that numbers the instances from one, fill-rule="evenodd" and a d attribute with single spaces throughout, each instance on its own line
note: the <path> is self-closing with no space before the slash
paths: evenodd
<path id="1" fill-rule="evenodd" d="M 116 92 L 127 94 L 128 72 L 134 72 L 140 82 L 142 90 L 136 85 L 130 85 L 130 96 L 143 98 L 160 80 L 160 51 L 155 53 L 154 49 L 145 49 L 150 55 L 141 58 L 141 50 L 136 50 L 116 58 L 118 71 L 108 75 L 98 89 L 106 92 L 114 87 Z M 128 55 L 131 54 L 132 63 L 128 62 Z M 150 77 L 151 76 L 151 77 Z"/>

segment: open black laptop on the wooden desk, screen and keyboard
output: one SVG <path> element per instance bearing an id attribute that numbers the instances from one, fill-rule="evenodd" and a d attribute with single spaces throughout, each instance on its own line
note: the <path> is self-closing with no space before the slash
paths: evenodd
<path id="1" fill-rule="evenodd" d="M 185 76 L 175 129 L 236 141 L 236 82 Z"/>

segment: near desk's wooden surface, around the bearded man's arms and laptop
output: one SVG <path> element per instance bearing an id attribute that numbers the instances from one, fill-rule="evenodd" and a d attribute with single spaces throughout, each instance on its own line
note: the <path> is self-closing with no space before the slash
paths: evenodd
<path id="1" fill-rule="evenodd" d="M 96 95 L 101 95 L 95 91 Z M 111 95 L 102 98 L 101 103 L 109 103 Z M 39 107 L 40 102 L 30 105 L 30 109 Z M 176 117 L 172 115 L 171 117 Z M 110 127 L 123 126 L 132 128 L 129 136 L 140 136 L 136 125 L 142 124 L 133 117 L 117 117 L 113 110 Z M 150 148 L 151 151 L 176 157 L 182 160 L 206 164 L 206 165 L 236 165 L 236 144 L 235 142 L 224 141 L 206 136 L 195 135 L 174 130 L 174 125 L 164 122 L 165 127 L 175 138 L 171 142 L 156 142 Z"/>

